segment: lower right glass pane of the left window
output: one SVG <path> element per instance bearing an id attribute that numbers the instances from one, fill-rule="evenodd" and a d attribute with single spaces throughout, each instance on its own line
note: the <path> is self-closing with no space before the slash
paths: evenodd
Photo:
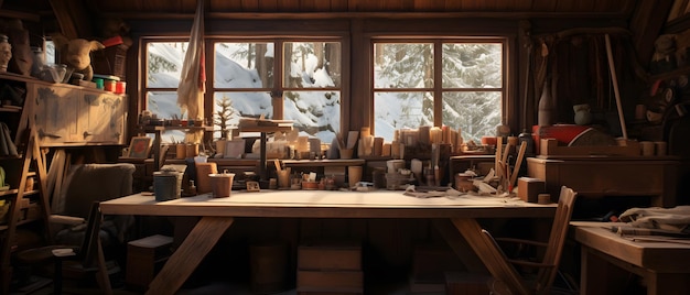
<path id="1" fill-rule="evenodd" d="M 300 133 L 331 143 L 341 129 L 339 91 L 285 91 L 284 119 Z"/>

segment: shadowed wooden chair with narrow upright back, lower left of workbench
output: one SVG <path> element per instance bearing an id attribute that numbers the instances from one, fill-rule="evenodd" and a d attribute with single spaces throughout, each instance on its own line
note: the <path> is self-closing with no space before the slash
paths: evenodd
<path id="1" fill-rule="evenodd" d="M 46 245 L 24 250 L 17 254 L 17 262 L 23 265 L 54 263 L 54 294 L 62 294 L 64 273 L 94 274 L 103 294 L 112 294 L 103 245 L 98 234 L 101 219 L 99 203 L 94 201 L 80 245 Z"/>

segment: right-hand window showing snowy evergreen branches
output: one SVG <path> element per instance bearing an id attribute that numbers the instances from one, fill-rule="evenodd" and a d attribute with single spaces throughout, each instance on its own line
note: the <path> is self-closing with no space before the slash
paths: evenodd
<path id="1" fill-rule="evenodd" d="M 503 40 L 374 42 L 375 134 L 422 125 L 479 142 L 502 123 Z"/>

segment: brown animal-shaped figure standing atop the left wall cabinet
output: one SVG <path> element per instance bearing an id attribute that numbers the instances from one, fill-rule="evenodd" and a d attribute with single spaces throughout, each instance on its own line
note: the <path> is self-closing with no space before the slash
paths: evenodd
<path id="1" fill-rule="evenodd" d="M 84 80 L 90 81 L 94 78 L 90 53 L 105 48 L 98 41 L 85 39 L 67 40 L 63 35 L 53 35 L 55 47 L 61 54 L 61 62 L 67 65 L 67 72 L 84 74 Z"/>

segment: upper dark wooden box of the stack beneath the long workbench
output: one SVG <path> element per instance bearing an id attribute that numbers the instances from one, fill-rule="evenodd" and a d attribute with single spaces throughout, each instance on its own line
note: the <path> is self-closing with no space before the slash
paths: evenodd
<path id="1" fill-rule="evenodd" d="M 362 270 L 362 245 L 355 242 L 312 242 L 298 248 L 299 270 Z"/>

